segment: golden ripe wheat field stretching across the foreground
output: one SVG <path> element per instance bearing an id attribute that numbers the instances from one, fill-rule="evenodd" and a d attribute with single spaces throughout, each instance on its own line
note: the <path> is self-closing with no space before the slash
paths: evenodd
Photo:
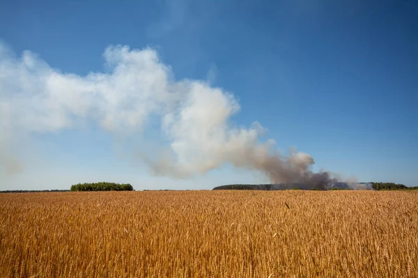
<path id="1" fill-rule="evenodd" d="M 0 254 L 1 277 L 418 277 L 418 192 L 0 194 Z"/>

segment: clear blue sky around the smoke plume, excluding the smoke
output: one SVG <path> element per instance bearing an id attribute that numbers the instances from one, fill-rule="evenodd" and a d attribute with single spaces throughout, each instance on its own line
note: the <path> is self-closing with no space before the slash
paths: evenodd
<path id="1" fill-rule="evenodd" d="M 106 72 L 109 45 L 150 47 L 173 79 L 231 92 L 240 104 L 232 125 L 260 122 L 260 140 L 296 146 L 314 157 L 314 170 L 408 186 L 418 186 L 417 34 L 415 0 L 0 2 L 0 40 L 17 57 L 29 50 L 63 74 L 86 76 Z M 152 124 L 138 137 L 115 138 L 88 121 L 34 132 L 15 148 L 24 170 L 0 172 L 0 189 L 268 181 L 228 163 L 188 179 L 150 174 L 129 156 L 160 137 Z"/>

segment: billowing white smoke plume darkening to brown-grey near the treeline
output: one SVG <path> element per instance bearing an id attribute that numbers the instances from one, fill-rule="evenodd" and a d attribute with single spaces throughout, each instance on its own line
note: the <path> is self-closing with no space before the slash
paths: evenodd
<path id="1" fill-rule="evenodd" d="M 309 154 L 282 156 L 274 140 L 261 142 L 261 124 L 236 127 L 237 99 L 199 80 L 176 81 L 154 49 L 108 47 L 106 72 L 86 76 L 60 72 L 31 51 L 15 57 L 0 44 L 0 167 L 22 170 L 10 153 L 17 136 L 75 129 L 97 122 L 118 136 L 144 132 L 150 117 L 160 118 L 170 144 L 145 157 L 154 174 L 190 177 L 231 163 L 264 172 L 273 183 L 304 183 L 324 188 L 336 182 L 328 172 L 314 173 Z"/>

